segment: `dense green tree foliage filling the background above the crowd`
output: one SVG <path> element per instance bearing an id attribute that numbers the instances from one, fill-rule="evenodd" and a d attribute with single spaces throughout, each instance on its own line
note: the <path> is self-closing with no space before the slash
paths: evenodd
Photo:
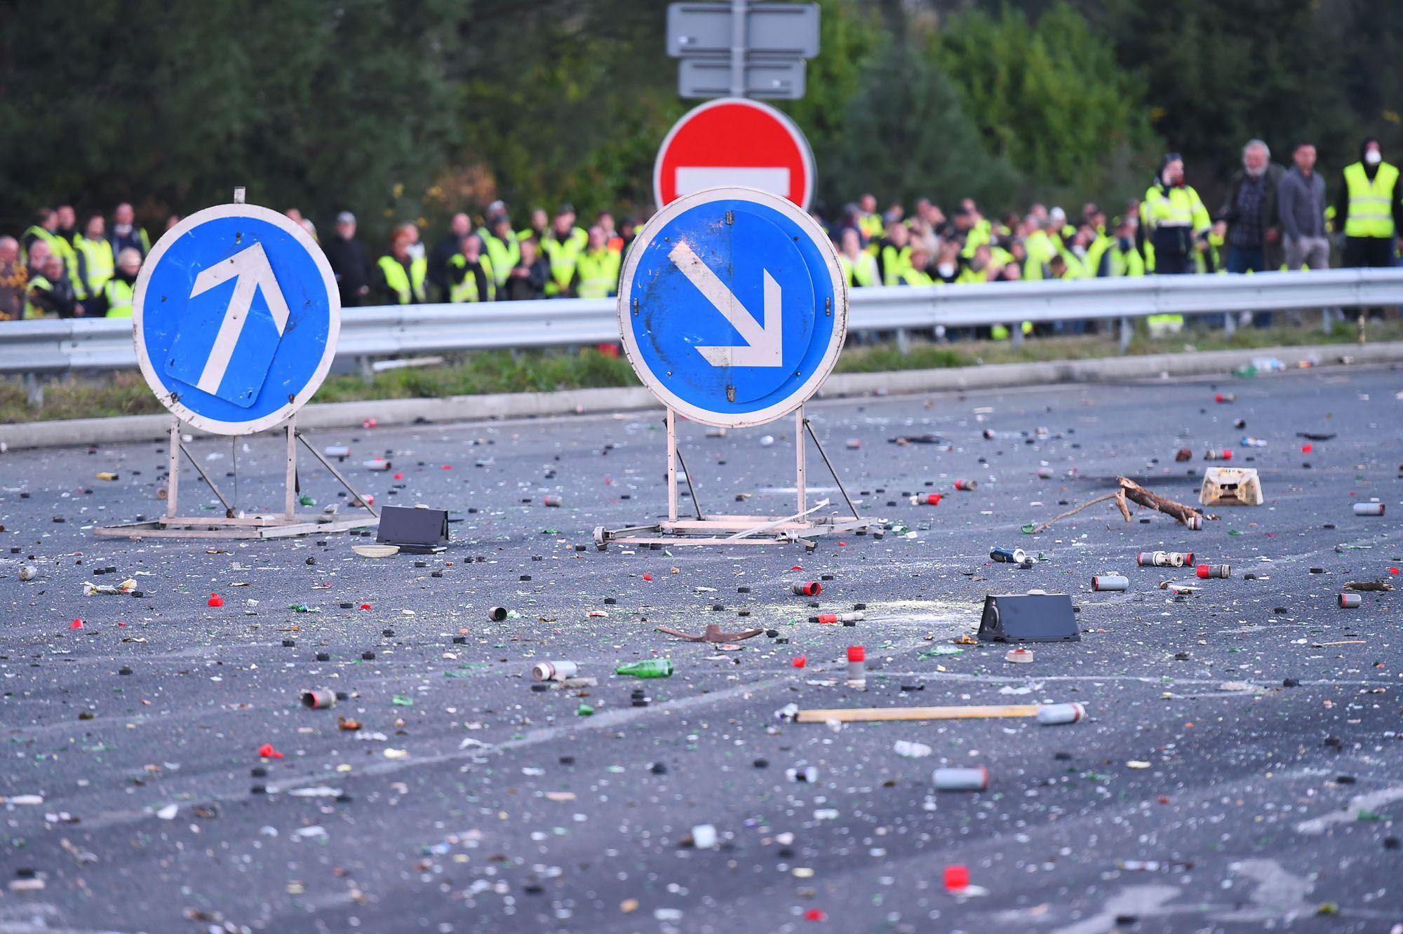
<path id="1" fill-rule="evenodd" d="M 822 0 L 808 97 L 829 209 L 1211 196 L 1242 143 L 1403 157 L 1403 4 Z M 72 0 L 0 6 L 0 229 L 39 205 L 351 208 L 372 236 L 506 199 L 645 212 L 676 97 L 655 0 Z"/>

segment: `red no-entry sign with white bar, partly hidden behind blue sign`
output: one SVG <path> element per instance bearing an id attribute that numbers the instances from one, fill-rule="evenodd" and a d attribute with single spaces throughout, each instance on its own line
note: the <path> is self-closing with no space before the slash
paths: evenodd
<path id="1" fill-rule="evenodd" d="M 814 153 L 794 121 L 739 97 L 707 101 L 679 119 L 652 165 L 658 209 L 704 188 L 727 187 L 759 188 L 808 210 Z"/>

